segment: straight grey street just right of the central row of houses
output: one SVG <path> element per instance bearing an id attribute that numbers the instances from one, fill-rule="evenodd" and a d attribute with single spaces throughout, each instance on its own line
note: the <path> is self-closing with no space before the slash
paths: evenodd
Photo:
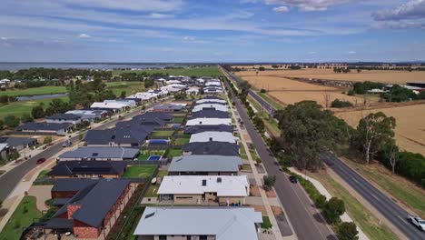
<path id="1" fill-rule="evenodd" d="M 262 159 L 262 164 L 267 174 L 276 175 L 276 184 L 274 185 L 276 194 L 281 199 L 285 214 L 291 221 L 298 239 L 336 239 L 301 185 L 292 184 L 289 181 L 289 176 L 281 171 L 276 159 L 270 155 L 262 136 L 258 134 L 252 125 L 239 98 L 233 96 L 232 100 L 252 139 L 252 144 L 255 145 L 257 153 Z"/>

